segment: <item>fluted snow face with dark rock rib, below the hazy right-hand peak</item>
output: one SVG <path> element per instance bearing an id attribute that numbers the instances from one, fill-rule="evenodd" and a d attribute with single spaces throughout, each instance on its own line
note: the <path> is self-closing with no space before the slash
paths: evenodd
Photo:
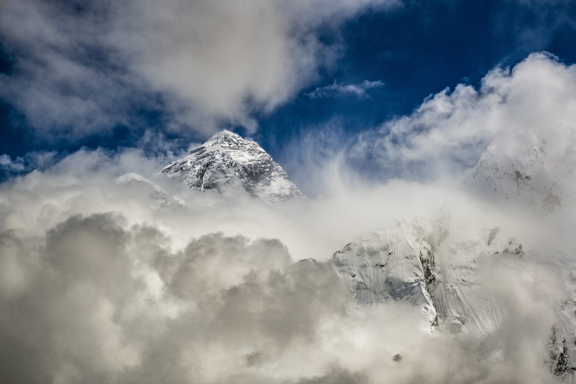
<path id="1" fill-rule="evenodd" d="M 522 245 L 498 227 L 471 236 L 451 230 L 448 218 L 441 217 L 358 237 L 336 252 L 332 263 L 358 308 L 404 301 L 419 307 L 428 325 L 486 333 L 502 318 L 501 309 L 482 295 L 479 259 L 523 254 Z"/>

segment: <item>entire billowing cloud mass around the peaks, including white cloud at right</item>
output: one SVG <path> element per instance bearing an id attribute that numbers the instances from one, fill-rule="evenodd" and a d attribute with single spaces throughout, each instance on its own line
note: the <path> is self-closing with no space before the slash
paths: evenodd
<path id="1" fill-rule="evenodd" d="M 479 91 L 440 93 L 370 140 L 398 176 L 414 178 L 417 162 L 434 177 L 357 178 L 350 187 L 328 166 L 318 180 L 338 188 L 310 201 L 267 206 L 166 183 L 186 205 L 155 210 L 114 181 L 166 162 L 137 150 L 82 150 L 6 181 L 0 381 L 555 382 L 548 339 L 556 305 L 574 294 L 574 206 L 542 215 L 487 201 L 461 188 L 463 173 L 453 171 L 469 169 L 492 140 L 510 143 L 508 135 L 536 135 L 569 152 L 575 83 L 574 67 L 535 55 L 488 74 Z M 461 150 L 469 143 L 473 150 Z M 547 164 L 564 164 L 562 187 L 572 193 L 574 165 Z M 350 292 L 323 263 L 358 235 L 441 209 L 463 233 L 498 225 L 526 250 L 478 260 L 481 294 L 506 308 L 488 339 L 424 330 L 408 303 L 351 310 Z M 299 261 L 308 258 L 317 262 Z"/>

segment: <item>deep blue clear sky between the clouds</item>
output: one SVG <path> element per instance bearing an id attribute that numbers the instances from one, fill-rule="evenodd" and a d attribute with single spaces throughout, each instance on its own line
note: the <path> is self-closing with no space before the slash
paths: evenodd
<path id="1" fill-rule="evenodd" d="M 478 85 L 488 70 L 510 66 L 534 51 L 550 51 L 565 63 L 576 62 L 576 2 L 562 1 L 409 1 L 393 11 L 370 12 L 347 22 L 338 35 L 342 41 L 337 65 L 294 100 L 258 117 L 255 138 L 272 157 L 302 131 L 327 121 L 338 121 L 345 132 L 377 126 L 390 117 L 410 113 L 423 98 L 458 82 Z M 11 58 L 0 52 L 0 71 L 10 75 Z M 382 81 L 354 95 L 314 98 L 306 96 L 331 84 Z M 147 124 L 115 134 L 92 135 L 74 142 L 46 143 L 35 138 L 20 111 L 0 104 L 0 154 L 12 157 L 33 150 L 70 152 L 81 146 L 115 149 L 131 146 L 146 126 L 156 126 L 157 111 L 142 111 Z M 238 129 L 242 133 L 242 129 Z M 198 137 L 196 139 L 203 139 Z M 184 145 L 184 143 L 183 143 Z"/>

